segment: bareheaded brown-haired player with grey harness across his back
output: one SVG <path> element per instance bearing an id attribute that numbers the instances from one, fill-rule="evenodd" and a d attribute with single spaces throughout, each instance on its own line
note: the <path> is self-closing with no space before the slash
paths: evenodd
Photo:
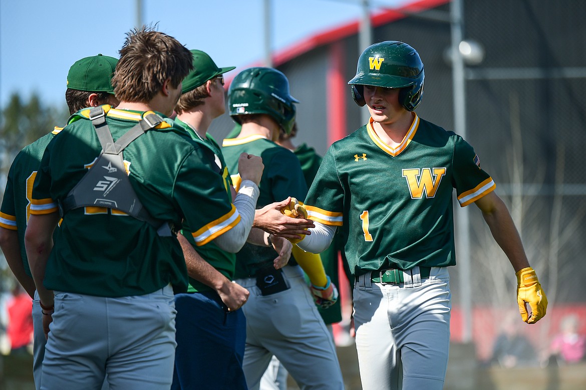
<path id="1" fill-rule="evenodd" d="M 173 290 L 188 286 L 174 232 L 185 222 L 200 245 L 222 246 L 231 230 L 248 236 L 252 217 L 227 199 L 207 150 L 165 118 L 192 66 L 176 39 L 132 30 L 112 79 L 119 106 L 78 111 L 47 145 L 25 234 L 50 330 L 43 389 L 97 388 L 105 374 L 112 388 L 170 388 Z M 239 196 L 254 209 L 263 165 L 240 160 Z"/>

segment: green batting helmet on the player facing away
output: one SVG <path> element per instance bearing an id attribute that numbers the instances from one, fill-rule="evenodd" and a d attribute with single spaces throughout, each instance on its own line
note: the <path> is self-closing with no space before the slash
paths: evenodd
<path id="1" fill-rule="evenodd" d="M 234 77 L 228 89 L 230 116 L 241 123 L 239 116 L 267 114 L 285 133 L 291 133 L 295 122 L 297 99 L 289 92 L 287 77 L 270 67 L 251 67 Z"/>

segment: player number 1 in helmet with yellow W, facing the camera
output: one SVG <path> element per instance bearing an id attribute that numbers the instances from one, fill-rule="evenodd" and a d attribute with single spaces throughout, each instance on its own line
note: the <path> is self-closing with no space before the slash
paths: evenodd
<path id="1" fill-rule="evenodd" d="M 345 238 L 356 348 L 365 389 L 441 389 L 448 362 L 455 265 L 452 191 L 481 210 L 517 276 L 523 321 L 546 314 L 541 290 L 495 183 L 459 135 L 413 112 L 424 68 L 406 43 L 376 43 L 350 80 L 370 121 L 329 148 L 306 198 L 316 227 L 298 243 L 319 253 Z M 527 313 L 529 304 L 532 313 Z M 402 369 L 401 369 L 402 365 Z"/>

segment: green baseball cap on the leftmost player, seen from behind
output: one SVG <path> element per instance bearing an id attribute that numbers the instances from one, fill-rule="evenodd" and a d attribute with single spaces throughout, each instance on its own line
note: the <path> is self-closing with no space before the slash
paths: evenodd
<path id="1" fill-rule="evenodd" d="M 101 54 L 76 61 L 67 73 L 67 88 L 114 94 L 112 76 L 117 62 L 114 57 Z"/>

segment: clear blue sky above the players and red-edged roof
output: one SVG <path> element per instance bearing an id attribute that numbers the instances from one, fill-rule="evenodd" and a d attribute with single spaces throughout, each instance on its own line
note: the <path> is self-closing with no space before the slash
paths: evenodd
<path id="1" fill-rule="evenodd" d="M 380 6 L 413 0 L 372 0 Z M 281 50 L 323 30 L 360 19 L 360 0 L 272 0 L 272 49 Z M 76 60 L 98 53 L 118 57 L 137 22 L 137 0 L 0 0 L 0 107 L 18 91 L 64 104 L 66 77 Z M 142 0 L 142 21 L 218 66 L 264 58 L 264 0 Z"/>

